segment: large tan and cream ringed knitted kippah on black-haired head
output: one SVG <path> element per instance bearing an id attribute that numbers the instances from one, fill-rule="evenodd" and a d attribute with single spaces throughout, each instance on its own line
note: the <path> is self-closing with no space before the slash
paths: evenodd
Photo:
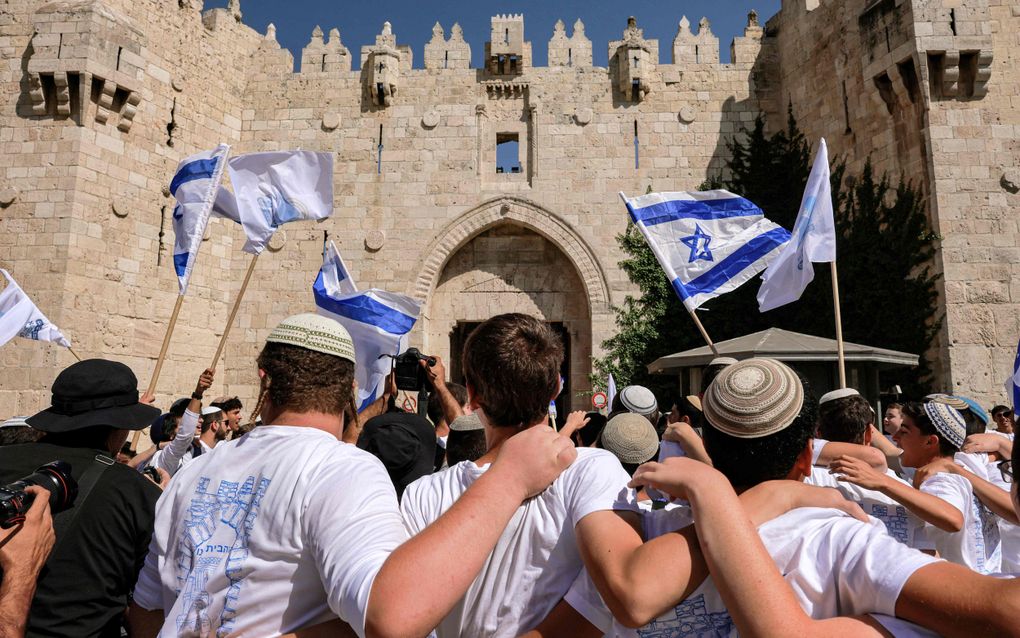
<path id="1" fill-rule="evenodd" d="M 804 386 L 775 359 L 753 358 L 725 367 L 705 392 L 702 407 L 716 430 L 757 439 L 784 430 L 804 406 Z"/>

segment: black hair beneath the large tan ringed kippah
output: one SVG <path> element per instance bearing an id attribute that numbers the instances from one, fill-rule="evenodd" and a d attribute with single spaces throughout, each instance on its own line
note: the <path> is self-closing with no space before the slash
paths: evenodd
<path id="1" fill-rule="evenodd" d="M 733 486 L 754 487 L 785 479 L 814 435 L 818 403 L 804 377 L 798 377 L 804 385 L 804 405 L 794 422 L 775 434 L 742 439 L 716 430 L 705 420 L 705 449 L 715 469 Z"/>

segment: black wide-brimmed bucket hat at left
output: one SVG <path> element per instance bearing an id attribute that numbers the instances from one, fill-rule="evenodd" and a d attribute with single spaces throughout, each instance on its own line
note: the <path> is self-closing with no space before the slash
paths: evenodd
<path id="1" fill-rule="evenodd" d="M 138 379 L 123 363 L 79 361 L 57 375 L 50 406 L 28 419 L 41 432 L 71 432 L 92 426 L 142 430 L 159 410 L 138 402 Z"/>

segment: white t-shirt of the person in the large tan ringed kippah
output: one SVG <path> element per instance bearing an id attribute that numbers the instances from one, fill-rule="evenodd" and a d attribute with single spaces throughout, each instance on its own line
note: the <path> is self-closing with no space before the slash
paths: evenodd
<path id="1" fill-rule="evenodd" d="M 688 509 L 646 514 L 663 519 L 662 533 L 691 524 Z M 802 507 L 758 528 L 798 602 L 811 618 L 863 614 L 896 616 L 904 584 L 918 569 L 937 559 L 907 547 L 885 533 L 878 521 L 862 523 L 836 509 Z M 652 536 L 648 537 L 653 538 Z M 593 625 L 620 638 L 659 636 L 730 636 L 735 626 L 711 577 L 673 609 L 645 627 L 632 630 L 613 622 L 605 625 L 592 604 L 591 579 L 578 579 L 567 602 Z M 596 609 L 593 611 L 593 609 Z"/>

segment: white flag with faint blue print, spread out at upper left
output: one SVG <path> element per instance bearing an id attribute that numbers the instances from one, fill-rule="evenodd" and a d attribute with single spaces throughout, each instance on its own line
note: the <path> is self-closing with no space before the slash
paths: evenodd
<path id="1" fill-rule="evenodd" d="M 311 151 L 249 153 L 227 165 L 245 251 L 262 252 L 280 225 L 333 213 L 333 154 Z"/>

